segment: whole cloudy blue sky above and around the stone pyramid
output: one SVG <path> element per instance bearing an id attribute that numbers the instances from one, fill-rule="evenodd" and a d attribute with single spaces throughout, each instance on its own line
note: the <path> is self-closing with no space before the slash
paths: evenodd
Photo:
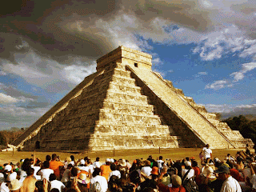
<path id="1" fill-rule="evenodd" d="M 256 114 L 256 3 L 22 1 L 0 11 L 0 130 L 26 127 L 118 46 L 224 117 Z"/>

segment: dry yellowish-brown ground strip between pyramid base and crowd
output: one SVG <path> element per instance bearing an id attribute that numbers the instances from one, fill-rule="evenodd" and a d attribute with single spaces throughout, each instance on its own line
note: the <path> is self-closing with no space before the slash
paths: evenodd
<path id="1" fill-rule="evenodd" d="M 213 150 L 213 158 L 224 159 L 226 154 L 235 155 L 238 150 L 244 149 L 226 149 L 226 150 Z M 36 158 L 40 158 L 42 161 L 45 161 L 46 154 L 58 154 L 61 160 L 64 161 L 66 157 L 69 157 L 71 154 L 74 155 L 75 159 L 84 158 L 89 156 L 92 162 L 94 162 L 96 157 L 99 157 L 101 162 L 104 162 L 106 158 L 125 158 L 129 160 L 129 162 L 133 162 L 136 158 L 148 158 L 149 155 L 152 155 L 154 159 L 157 159 L 160 155 L 164 159 L 170 158 L 173 160 L 182 159 L 186 157 L 194 157 L 199 162 L 199 156 L 201 149 L 195 148 L 179 148 L 179 149 L 151 149 L 151 150 L 104 150 L 104 151 L 96 151 L 96 152 L 85 152 L 85 153 L 63 153 L 63 152 L 24 152 L 24 151 L 14 151 L 14 152 L 0 152 L 0 165 L 6 162 L 13 162 L 16 164 L 22 158 L 32 158 L 32 154 L 35 155 Z M 254 152 L 254 151 L 252 151 Z"/>

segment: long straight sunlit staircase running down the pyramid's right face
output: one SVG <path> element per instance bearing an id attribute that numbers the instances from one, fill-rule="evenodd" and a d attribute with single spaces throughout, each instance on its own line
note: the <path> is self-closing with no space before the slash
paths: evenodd
<path id="1" fill-rule="evenodd" d="M 135 66 L 127 66 L 146 86 L 150 88 L 170 108 L 175 111 L 178 118 L 185 122 L 187 127 L 200 138 L 204 143 L 209 143 L 212 148 L 234 147 L 234 144 L 226 138 L 208 119 L 198 111 L 206 111 L 198 106 L 198 110 L 190 106 L 188 102 L 194 102 L 192 98 L 181 97 L 182 90 L 170 89 L 170 84 L 166 83 L 159 75 L 151 70 L 139 70 Z M 199 110 L 202 108 L 201 110 Z M 207 114 L 212 118 L 214 115 Z"/>

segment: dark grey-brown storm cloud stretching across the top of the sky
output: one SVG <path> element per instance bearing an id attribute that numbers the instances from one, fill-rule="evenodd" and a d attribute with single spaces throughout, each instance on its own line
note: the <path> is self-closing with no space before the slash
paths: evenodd
<path id="1" fill-rule="evenodd" d="M 0 11 L 0 57 L 12 62 L 15 62 L 15 52 L 28 51 L 28 47 L 21 46 L 24 41 L 37 54 L 57 62 L 69 64 L 72 57 L 94 60 L 118 46 L 106 27 L 108 22 L 115 22 L 114 17 L 119 14 L 133 15 L 139 20 L 138 27 L 133 23 L 126 26 L 128 34 L 154 33 L 158 30 L 150 23 L 154 18 L 198 31 L 214 30 L 215 26 L 227 22 L 247 30 L 251 38 L 254 38 L 256 26 L 255 3 L 245 0 L 18 0 L 5 3 Z M 99 20 L 102 24 L 96 23 Z M 82 23 L 82 30 L 76 22 Z M 154 39 L 154 35 L 150 38 Z"/>

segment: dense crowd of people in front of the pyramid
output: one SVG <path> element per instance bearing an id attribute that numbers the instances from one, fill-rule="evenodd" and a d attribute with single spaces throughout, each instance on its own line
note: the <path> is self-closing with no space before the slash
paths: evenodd
<path id="1" fill-rule="evenodd" d="M 207 144 L 194 157 L 169 159 L 66 158 L 57 154 L 21 159 L 0 166 L 0 192 L 241 192 L 256 191 L 256 155 L 249 149 L 213 158 Z"/>

